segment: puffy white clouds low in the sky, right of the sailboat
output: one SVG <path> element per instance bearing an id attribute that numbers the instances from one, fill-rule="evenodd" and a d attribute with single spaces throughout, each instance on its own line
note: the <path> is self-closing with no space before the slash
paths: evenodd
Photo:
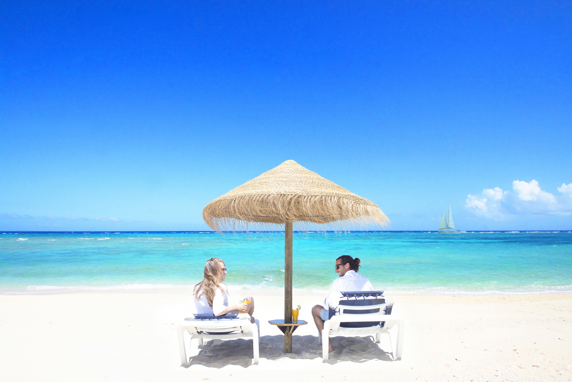
<path id="1" fill-rule="evenodd" d="M 569 216 L 572 214 L 572 183 L 558 187 L 562 195 L 543 191 L 538 181 L 515 180 L 513 191 L 486 188 L 480 195 L 467 195 L 465 208 L 478 216 L 494 220 L 522 215 Z"/>

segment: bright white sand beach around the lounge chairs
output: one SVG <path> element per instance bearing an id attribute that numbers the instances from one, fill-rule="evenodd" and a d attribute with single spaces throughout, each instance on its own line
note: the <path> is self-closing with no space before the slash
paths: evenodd
<path id="1" fill-rule="evenodd" d="M 209 341 L 181 367 L 176 325 L 192 313 L 188 289 L 160 293 L 0 296 L 3 381 L 569 381 L 572 293 L 510 296 L 388 295 L 406 320 L 403 359 L 387 336 L 334 337 L 323 363 L 310 308 L 319 293 L 294 293 L 308 325 L 283 336 L 280 291 L 232 291 L 256 299 L 260 364 L 252 340 Z M 282 372 L 284 371 L 284 372 Z"/>

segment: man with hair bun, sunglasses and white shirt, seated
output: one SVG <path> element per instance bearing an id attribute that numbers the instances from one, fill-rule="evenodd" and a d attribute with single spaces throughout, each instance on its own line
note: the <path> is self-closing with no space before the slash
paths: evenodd
<path id="1" fill-rule="evenodd" d="M 312 308 L 312 317 L 318 332 L 324 329 L 324 322 L 329 320 L 329 315 L 331 309 L 337 307 L 337 301 L 339 300 L 339 292 L 360 292 L 360 291 L 373 291 L 374 288 L 371 286 L 370 280 L 358 273 L 360 268 L 359 258 L 353 258 L 344 254 L 336 258 L 335 271 L 339 274 L 339 277 L 332 282 L 330 286 L 328 295 L 324 299 L 323 305 L 315 305 Z M 330 304 L 330 300 L 332 304 Z M 391 314 L 391 308 L 393 303 L 386 300 L 387 314 Z M 329 341 L 329 351 L 333 352 L 332 341 Z"/>

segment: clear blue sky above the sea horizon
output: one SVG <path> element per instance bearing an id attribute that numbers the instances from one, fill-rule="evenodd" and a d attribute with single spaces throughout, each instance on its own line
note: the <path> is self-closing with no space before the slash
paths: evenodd
<path id="1" fill-rule="evenodd" d="M 572 229 L 569 2 L 3 2 L 0 230 L 205 229 L 293 159 L 390 229 Z M 500 191 L 499 191 L 500 190 Z"/>

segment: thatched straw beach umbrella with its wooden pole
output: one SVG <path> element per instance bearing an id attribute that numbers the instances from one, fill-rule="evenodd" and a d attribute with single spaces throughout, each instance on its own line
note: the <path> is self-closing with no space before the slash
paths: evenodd
<path id="1" fill-rule="evenodd" d="M 387 216 L 367 199 L 349 192 L 295 161 L 285 161 L 216 198 L 202 218 L 217 232 L 250 225 L 284 224 L 284 322 L 292 323 L 292 224 L 387 225 Z M 334 223 L 335 222 L 335 223 Z"/>

